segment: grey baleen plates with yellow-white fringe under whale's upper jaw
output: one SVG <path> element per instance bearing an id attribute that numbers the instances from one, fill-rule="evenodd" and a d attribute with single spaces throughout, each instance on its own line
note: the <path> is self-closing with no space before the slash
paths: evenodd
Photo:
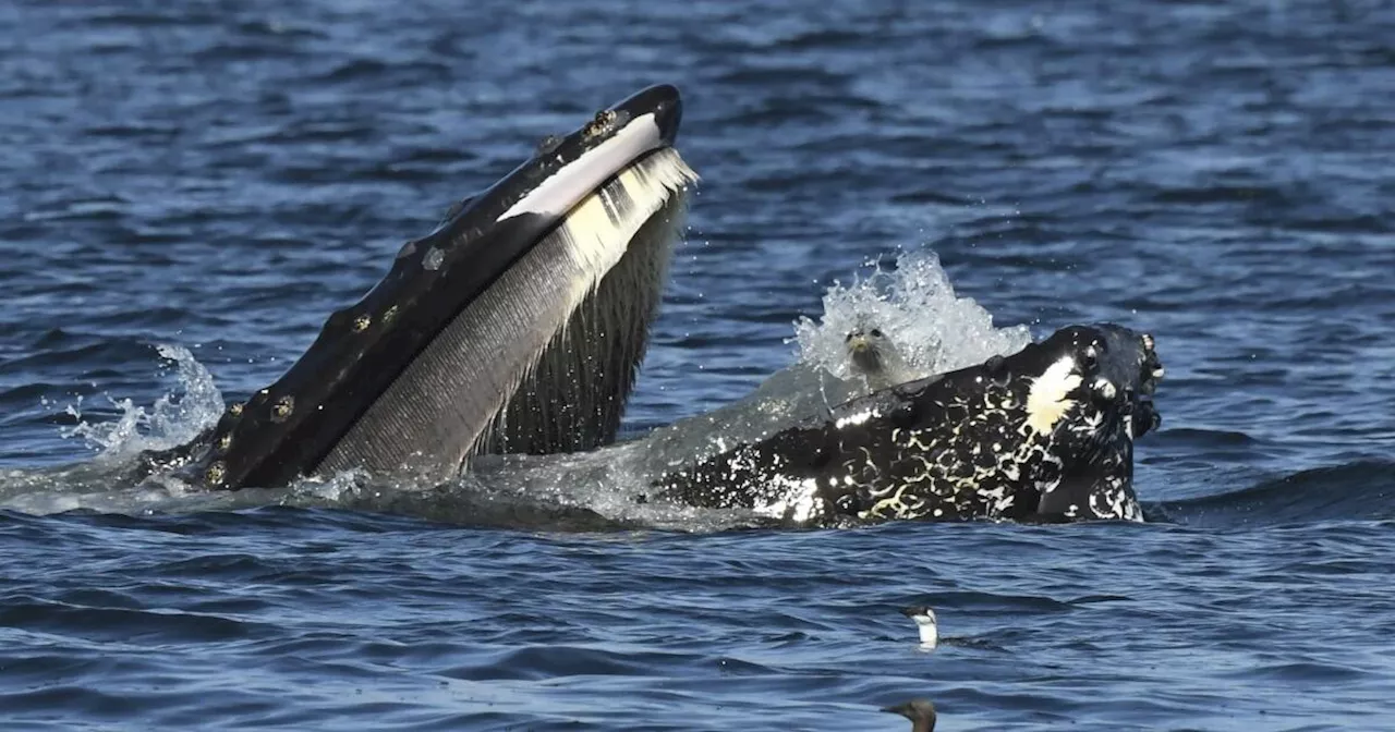
<path id="1" fill-rule="evenodd" d="M 437 335 L 321 468 L 445 478 L 478 452 L 614 439 L 696 181 L 661 148 L 572 206 Z"/>

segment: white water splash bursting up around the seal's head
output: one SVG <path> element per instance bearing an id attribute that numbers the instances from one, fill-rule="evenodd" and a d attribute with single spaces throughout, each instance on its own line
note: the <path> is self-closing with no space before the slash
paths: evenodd
<path id="1" fill-rule="evenodd" d="M 1025 325 L 995 328 L 993 315 L 974 298 L 957 297 L 933 251 L 903 254 L 890 272 L 880 262 L 875 268 L 851 286 L 834 283 L 817 323 L 799 318 L 794 340 L 801 361 L 847 379 L 843 339 L 854 326 L 882 329 L 918 378 L 1010 356 L 1031 343 Z"/>

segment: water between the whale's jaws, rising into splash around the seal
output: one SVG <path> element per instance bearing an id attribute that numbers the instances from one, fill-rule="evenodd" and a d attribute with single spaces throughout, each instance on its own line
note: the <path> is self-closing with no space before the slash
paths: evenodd
<path id="1" fill-rule="evenodd" d="M 851 286 L 834 284 L 823 307 L 819 322 L 794 323 L 787 340 L 799 344 L 794 363 L 741 399 L 590 453 L 480 462 L 474 489 L 585 508 L 656 528 L 738 526 L 752 519 L 751 512 L 639 503 L 636 496 L 647 495 L 649 481 L 665 470 L 762 439 L 864 393 L 861 379 L 845 381 L 851 375 L 843 339 L 854 323 L 880 328 L 918 378 L 1009 356 L 1031 342 L 1027 326 L 995 328 L 978 303 L 957 297 L 933 252 L 905 254 L 894 270 L 877 268 Z"/>

